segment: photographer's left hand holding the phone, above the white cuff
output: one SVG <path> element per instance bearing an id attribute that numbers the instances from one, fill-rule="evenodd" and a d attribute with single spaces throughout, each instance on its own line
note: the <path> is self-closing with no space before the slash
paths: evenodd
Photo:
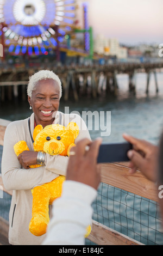
<path id="1" fill-rule="evenodd" d="M 71 149 L 71 153 L 73 151 L 74 155 L 70 156 L 68 162 L 67 180 L 82 182 L 97 190 L 101 182 L 99 164 L 97 164 L 101 142 L 101 139 L 97 139 L 93 142 L 89 139 L 83 139 L 77 143 L 76 147 Z M 86 146 L 89 147 L 89 150 L 85 150 Z"/>

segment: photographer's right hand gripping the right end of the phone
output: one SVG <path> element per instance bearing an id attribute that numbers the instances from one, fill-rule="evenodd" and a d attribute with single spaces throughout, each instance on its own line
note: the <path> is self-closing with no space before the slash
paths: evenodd
<path id="1" fill-rule="evenodd" d="M 131 160 L 130 172 L 134 173 L 136 169 L 139 169 L 149 180 L 155 182 L 157 179 L 158 147 L 126 134 L 123 135 L 123 138 L 133 145 L 133 150 L 128 151 L 128 157 Z"/>

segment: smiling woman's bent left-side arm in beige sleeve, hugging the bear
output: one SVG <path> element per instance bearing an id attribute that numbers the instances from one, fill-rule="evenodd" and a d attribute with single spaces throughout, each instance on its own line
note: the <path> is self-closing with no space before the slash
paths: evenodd
<path id="1" fill-rule="evenodd" d="M 57 178 L 58 175 L 46 170 L 45 166 L 22 168 L 14 152 L 14 145 L 18 141 L 16 126 L 11 123 L 5 131 L 2 155 L 2 179 L 7 190 L 30 190 Z"/>

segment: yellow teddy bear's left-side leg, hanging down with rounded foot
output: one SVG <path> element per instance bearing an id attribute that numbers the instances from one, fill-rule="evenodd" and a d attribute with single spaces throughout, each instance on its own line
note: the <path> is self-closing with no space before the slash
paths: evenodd
<path id="1" fill-rule="evenodd" d="M 49 199 L 51 196 L 42 186 L 35 187 L 32 194 L 32 219 L 29 223 L 29 231 L 35 236 L 41 236 L 46 233 L 49 222 Z"/>

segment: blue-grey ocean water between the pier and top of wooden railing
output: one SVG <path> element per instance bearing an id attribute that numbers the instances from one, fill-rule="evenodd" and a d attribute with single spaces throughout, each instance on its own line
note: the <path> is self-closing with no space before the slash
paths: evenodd
<path id="1" fill-rule="evenodd" d="M 149 93 L 146 95 L 146 74 L 136 76 L 136 95 L 128 91 L 128 76 L 118 75 L 118 95 L 98 96 L 97 99 L 91 97 L 79 97 L 79 102 L 75 102 L 73 96 L 68 102 L 60 101 L 60 111 L 65 112 L 68 107 L 69 113 L 77 111 L 81 117 L 84 112 L 91 111 L 111 112 L 111 133 L 109 136 L 102 136 L 104 142 L 121 142 L 122 134 L 126 132 L 135 137 L 147 139 L 150 142 L 158 143 L 161 129 L 163 129 L 163 71 L 157 74 L 159 93 L 155 93 L 154 76 L 151 77 Z M 20 120 L 30 116 L 29 103 L 22 102 L 0 102 L 0 118 L 7 120 Z M 101 137 L 102 130 L 96 129 L 96 121 L 92 119 L 92 129 L 90 135 L 92 139 Z M 106 118 L 105 118 L 106 122 Z M 87 120 L 87 124 L 89 121 Z M 106 123 L 105 123 L 106 125 Z M 110 125 L 110 124 L 109 124 Z"/>

